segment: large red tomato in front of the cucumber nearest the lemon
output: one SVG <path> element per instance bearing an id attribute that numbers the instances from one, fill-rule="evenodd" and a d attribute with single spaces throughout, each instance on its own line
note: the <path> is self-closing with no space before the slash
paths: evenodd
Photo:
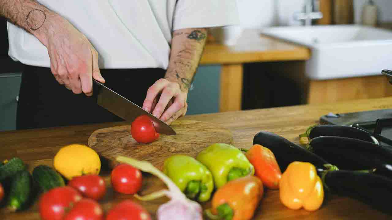
<path id="1" fill-rule="evenodd" d="M 62 186 L 44 193 L 39 202 L 43 220 L 62 220 L 65 210 L 82 199 L 82 195 L 71 186 Z"/>

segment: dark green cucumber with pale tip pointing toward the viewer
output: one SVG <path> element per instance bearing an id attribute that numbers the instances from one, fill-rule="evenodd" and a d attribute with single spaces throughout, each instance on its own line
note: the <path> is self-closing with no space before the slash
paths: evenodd
<path id="1" fill-rule="evenodd" d="M 22 170 L 11 179 L 7 206 L 10 211 L 24 209 L 31 197 L 32 187 L 29 171 Z"/>

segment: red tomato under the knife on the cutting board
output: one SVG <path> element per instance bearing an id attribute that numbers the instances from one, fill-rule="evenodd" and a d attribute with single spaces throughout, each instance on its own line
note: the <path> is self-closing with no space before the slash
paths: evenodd
<path id="1" fill-rule="evenodd" d="M 156 133 L 154 123 L 147 115 L 140 115 L 131 125 L 131 135 L 139 143 L 151 143 L 158 140 L 159 133 Z"/>

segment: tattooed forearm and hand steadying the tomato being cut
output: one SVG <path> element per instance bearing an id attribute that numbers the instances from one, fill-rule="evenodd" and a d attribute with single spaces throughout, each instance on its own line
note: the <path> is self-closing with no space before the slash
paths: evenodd
<path id="1" fill-rule="evenodd" d="M 187 96 L 205 45 L 205 29 L 173 32 L 169 67 L 147 91 L 143 108 L 167 124 L 186 114 Z"/>

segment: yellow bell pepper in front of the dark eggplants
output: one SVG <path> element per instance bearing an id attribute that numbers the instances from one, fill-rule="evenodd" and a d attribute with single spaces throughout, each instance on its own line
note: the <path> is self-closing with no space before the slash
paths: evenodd
<path id="1" fill-rule="evenodd" d="M 289 209 L 319 209 L 324 200 L 323 182 L 309 162 L 292 162 L 279 181 L 280 200 Z"/>

